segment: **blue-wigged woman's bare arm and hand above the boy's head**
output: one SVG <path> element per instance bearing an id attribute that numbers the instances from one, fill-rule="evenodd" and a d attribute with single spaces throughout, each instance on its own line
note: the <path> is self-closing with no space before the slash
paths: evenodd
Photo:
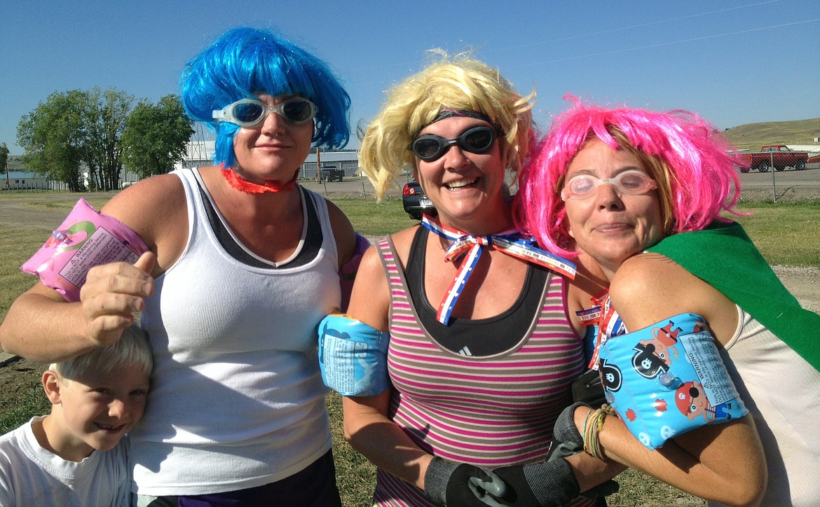
<path id="1" fill-rule="evenodd" d="M 150 251 L 130 265 L 116 262 L 89 270 L 80 302 L 66 302 L 37 283 L 11 305 L 0 325 L 5 351 L 40 363 L 66 360 L 119 340 L 122 330 L 153 293 L 153 277 L 185 246 L 187 210 L 180 180 L 146 179 L 117 194 L 103 213 L 128 225 Z"/>

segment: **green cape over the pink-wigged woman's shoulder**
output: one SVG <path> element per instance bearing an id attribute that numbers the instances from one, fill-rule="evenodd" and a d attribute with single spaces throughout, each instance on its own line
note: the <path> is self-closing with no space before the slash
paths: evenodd
<path id="1" fill-rule="evenodd" d="M 715 287 L 820 371 L 820 315 L 800 307 L 740 224 L 713 222 L 672 234 L 647 251 Z"/>

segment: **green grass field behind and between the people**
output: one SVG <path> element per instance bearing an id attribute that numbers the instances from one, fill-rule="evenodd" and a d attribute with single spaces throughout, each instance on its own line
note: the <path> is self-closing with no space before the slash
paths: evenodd
<path id="1" fill-rule="evenodd" d="M 31 201 L 33 209 L 71 210 L 76 199 L 49 201 L 47 195 L 31 194 L 0 195 L 6 199 Z M 89 198 L 93 206 L 101 207 L 104 200 Z M 392 199 L 376 204 L 367 199 L 335 199 L 335 203 L 348 215 L 354 227 L 367 236 L 380 236 L 404 229 L 413 224 L 404 214 L 401 201 Z M 27 206 L 29 206 L 27 204 Z M 770 264 L 798 265 L 820 268 L 820 244 L 816 241 L 817 224 L 820 223 L 820 203 L 792 205 L 744 205 L 742 211 L 754 215 L 739 217 L 749 236 L 754 239 Z M 0 319 L 8 306 L 21 292 L 34 283 L 34 277 L 18 269 L 48 237 L 43 227 L 20 227 L 0 222 Z M 48 410 L 44 396 L 37 383 L 16 397 L 14 403 L 0 407 L 0 432 L 30 419 L 33 414 Z M 328 398 L 331 424 L 333 426 L 337 476 L 344 505 L 371 505 L 375 469 L 367 459 L 359 455 L 344 441 L 341 431 L 341 403 L 339 396 Z M 618 478 L 621 491 L 608 498 L 608 505 L 705 505 L 703 500 L 688 496 L 675 488 L 634 471 L 626 471 Z"/>

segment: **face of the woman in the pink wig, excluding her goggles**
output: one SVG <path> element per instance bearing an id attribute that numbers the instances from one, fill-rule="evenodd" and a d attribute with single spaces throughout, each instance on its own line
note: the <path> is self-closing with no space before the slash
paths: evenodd
<path id="1" fill-rule="evenodd" d="M 613 150 L 594 138 L 572 159 L 564 181 L 577 174 L 610 179 L 626 170 L 645 171 L 645 168 L 631 152 Z M 657 190 L 628 195 L 612 184 L 604 184 L 590 197 L 567 199 L 565 206 L 570 236 L 599 263 L 610 279 L 624 260 L 663 238 Z"/>

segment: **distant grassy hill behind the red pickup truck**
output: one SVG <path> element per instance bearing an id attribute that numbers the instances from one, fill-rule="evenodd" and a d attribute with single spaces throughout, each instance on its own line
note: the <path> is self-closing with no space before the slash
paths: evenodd
<path id="1" fill-rule="evenodd" d="M 749 123 L 726 129 L 723 135 L 738 149 L 759 150 L 766 144 L 817 144 L 820 118 L 813 120 L 768 121 Z"/>

